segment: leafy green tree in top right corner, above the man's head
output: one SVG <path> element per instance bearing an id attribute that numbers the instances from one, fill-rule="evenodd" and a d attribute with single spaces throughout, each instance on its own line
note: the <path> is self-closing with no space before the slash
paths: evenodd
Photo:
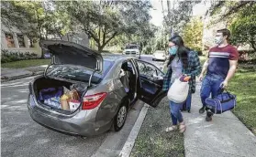
<path id="1" fill-rule="evenodd" d="M 256 3 L 255 1 L 219 1 L 211 6 L 212 21 L 227 21 L 231 40 L 235 45 L 250 44 L 256 51 Z"/>

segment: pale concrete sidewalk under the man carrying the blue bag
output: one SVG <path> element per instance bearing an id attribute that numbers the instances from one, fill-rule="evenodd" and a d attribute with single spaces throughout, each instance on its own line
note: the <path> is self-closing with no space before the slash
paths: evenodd
<path id="1" fill-rule="evenodd" d="M 206 122 L 201 115 L 200 85 L 193 96 L 191 113 L 184 112 L 187 130 L 184 133 L 186 157 L 256 156 L 256 137 L 231 112 L 214 115 Z M 239 104 L 238 104 L 239 105 Z"/>

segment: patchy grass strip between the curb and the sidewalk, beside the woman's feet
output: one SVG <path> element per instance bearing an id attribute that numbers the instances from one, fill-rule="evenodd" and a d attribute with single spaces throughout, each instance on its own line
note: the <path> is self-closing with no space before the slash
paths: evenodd
<path id="1" fill-rule="evenodd" d="M 148 110 L 131 157 L 184 157 L 184 135 L 178 131 L 165 132 L 172 124 L 168 102 L 168 99 L 162 99 L 157 108 Z"/>

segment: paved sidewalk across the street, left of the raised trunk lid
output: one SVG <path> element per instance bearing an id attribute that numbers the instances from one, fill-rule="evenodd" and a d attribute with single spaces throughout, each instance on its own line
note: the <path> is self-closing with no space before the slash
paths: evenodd
<path id="1" fill-rule="evenodd" d="M 1 81 L 27 78 L 42 74 L 47 65 L 29 68 L 1 68 Z"/>

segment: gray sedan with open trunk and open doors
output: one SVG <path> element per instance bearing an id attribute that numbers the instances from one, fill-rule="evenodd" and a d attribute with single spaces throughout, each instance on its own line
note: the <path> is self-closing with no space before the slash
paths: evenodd
<path id="1" fill-rule="evenodd" d="M 163 73 L 148 62 L 102 56 L 65 41 L 40 45 L 52 59 L 44 75 L 29 84 L 28 111 L 33 120 L 51 130 L 81 136 L 120 131 L 137 99 L 156 107 L 166 95 L 161 90 Z M 64 94 L 60 89 L 76 89 L 78 105 L 67 110 L 60 103 L 48 103 L 50 97 L 60 99 Z"/>

